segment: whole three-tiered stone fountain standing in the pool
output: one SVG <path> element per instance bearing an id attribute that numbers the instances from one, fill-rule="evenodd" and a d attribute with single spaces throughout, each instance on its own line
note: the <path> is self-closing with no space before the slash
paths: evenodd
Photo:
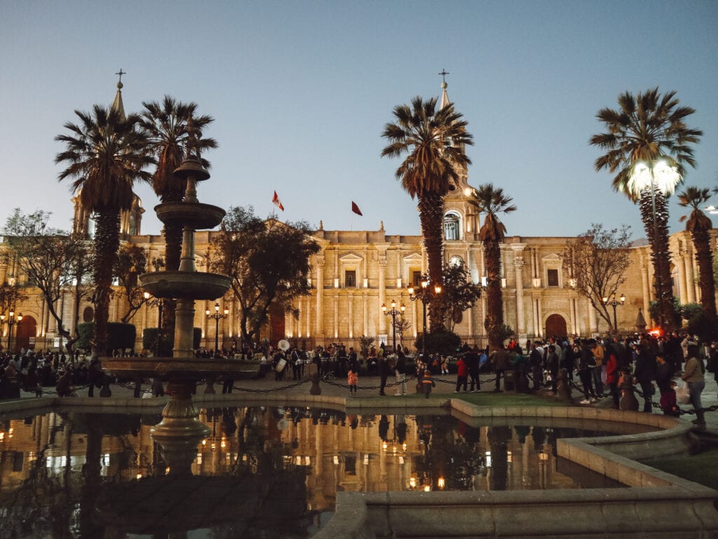
<path id="1" fill-rule="evenodd" d="M 193 133 L 192 133 L 193 134 Z M 230 277 L 198 272 L 195 267 L 195 231 L 215 228 L 225 211 L 197 200 L 197 182 L 209 179 L 202 167 L 199 151 L 187 152 L 187 159 L 174 175 L 187 182 L 182 202 L 167 202 L 154 207 L 165 225 L 183 228 L 182 258 L 177 271 L 154 271 L 139 276 L 142 288 L 160 299 L 177 299 L 172 357 L 103 358 L 103 369 L 128 378 L 160 378 L 167 381 L 172 395 L 162 411 L 162 421 L 152 428 L 151 436 L 162 447 L 162 454 L 171 466 L 171 473 L 189 473 L 197 444 L 208 436 L 209 428 L 199 421 L 199 410 L 192 402 L 197 380 L 232 375 L 241 370 L 235 360 L 198 358 L 192 349 L 195 300 L 215 300 L 230 286 Z"/>

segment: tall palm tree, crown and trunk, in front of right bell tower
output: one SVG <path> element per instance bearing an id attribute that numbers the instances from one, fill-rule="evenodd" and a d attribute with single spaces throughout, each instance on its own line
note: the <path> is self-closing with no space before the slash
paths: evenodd
<path id="1" fill-rule="evenodd" d="M 429 266 L 429 280 L 441 283 L 443 276 L 442 220 L 444 196 L 451 182 L 456 182 L 460 172 L 471 164 L 465 152 L 467 144 L 473 144 L 472 135 L 467 133 L 467 122 L 462 114 L 454 111 L 452 103 L 437 111 L 437 99 L 424 101 L 416 96 L 411 107 L 394 107 L 394 123 L 384 126 L 382 136 L 389 145 L 381 156 L 406 159 L 396 169 L 396 178 L 401 187 L 419 200 L 421 235 Z M 444 313 L 442 301 L 434 296 L 429 303 L 430 331 L 443 329 Z"/>

